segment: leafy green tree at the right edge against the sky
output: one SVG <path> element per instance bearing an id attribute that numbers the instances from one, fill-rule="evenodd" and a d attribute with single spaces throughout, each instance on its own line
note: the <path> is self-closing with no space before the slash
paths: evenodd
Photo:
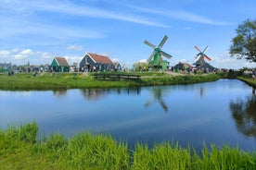
<path id="1" fill-rule="evenodd" d="M 256 62 L 256 19 L 246 19 L 237 27 L 237 36 L 232 39 L 229 49 L 231 56 Z"/>

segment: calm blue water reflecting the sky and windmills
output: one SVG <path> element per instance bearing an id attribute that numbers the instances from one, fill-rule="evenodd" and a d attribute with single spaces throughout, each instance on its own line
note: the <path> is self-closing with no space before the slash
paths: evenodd
<path id="1" fill-rule="evenodd" d="M 256 149 L 255 89 L 237 79 L 133 89 L 0 91 L 0 128 L 35 121 L 41 136 L 83 131 L 116 140 L 173 140 Z"/>

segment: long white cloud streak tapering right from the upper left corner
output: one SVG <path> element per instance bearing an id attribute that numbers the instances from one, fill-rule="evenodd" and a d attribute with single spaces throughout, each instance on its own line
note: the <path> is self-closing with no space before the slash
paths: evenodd
<path id="1" fill-rule="evenodd" d="M 97 8 L 94 6 L 78 6 L 68 1 L 12 1 L 11 3 L 7 2 L 3 5 L 6 7 L 6 11 L 12 10 L 17 13 L 25 13 L 25 11 L 47 11 L 54 13 L 62 13 L 73 16 L 87 17 L 87 18 L 108 18 L 114 20 L 121 20 L 126 22 L 132 22 L 147 26 L 155 26 L 167 28 L 165 24 L 161 24 L 156 21 L 151 21 L 149 18 L 142 18 L 132 15 L 124 15 L 120 12 L 115 12 L 113 10 L 106 10 Z M 21 10 L 22 9 L 22 10 Z M 30 12 L 28 12 L 30 13 Z"/>

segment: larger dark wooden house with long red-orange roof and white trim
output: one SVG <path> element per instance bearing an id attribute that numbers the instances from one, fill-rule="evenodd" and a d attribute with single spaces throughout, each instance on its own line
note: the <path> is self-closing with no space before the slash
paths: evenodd
<path id="1" fill-rule="evenodd" d="M 79 63 L 80 71 L 110 71 L 114 70 L 115 66 L 106 55 L 96 55 L 87 53 Z"/>

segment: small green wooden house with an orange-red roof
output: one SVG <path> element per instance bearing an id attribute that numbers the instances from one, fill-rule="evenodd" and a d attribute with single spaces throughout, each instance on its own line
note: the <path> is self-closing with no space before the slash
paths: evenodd
<path id="1" fill-rule="evenodd" d="M 55 72 L 70 72 L 69 63 L 63 57 L 55 57 L 51 63 L 51 69 Z"/>

